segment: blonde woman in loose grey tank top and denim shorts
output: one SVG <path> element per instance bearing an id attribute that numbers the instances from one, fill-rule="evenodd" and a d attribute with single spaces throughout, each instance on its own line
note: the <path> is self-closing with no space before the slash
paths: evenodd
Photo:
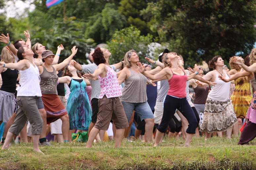
<path id="1" fill-rule="evenodd" d="M 153 133 L 154 115 L 147 102 L 146 85 L 147 78 L 138 70 L 137 63 L 139 57 L 134 50 L 129 50 L 125 54 L 125 68 L 121 71 L 118 82 L 125 82 L 122 89 L 121 101 L 125 109 L 127 120 L 129 122 L 132 111 L 135 110 L 140 116 L 141 121 L 146 122 L 145 140 L 150 142 Z"/>

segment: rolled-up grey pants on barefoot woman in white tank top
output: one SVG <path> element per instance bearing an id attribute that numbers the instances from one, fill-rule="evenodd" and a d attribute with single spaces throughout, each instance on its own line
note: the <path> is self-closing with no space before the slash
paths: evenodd
<path id="1" fill-rule="evenodd" d="M 36 102 L 36 96 L 18 96 L 17 103 L 19 105 L 18 112 L 16 114 L 14 123 L 8 131 L 18 135 L 22 128 L 25 126 L 27 120 L 32 125 L 32 135 L 42 133 L 43 120 L 38 111 Z"/>

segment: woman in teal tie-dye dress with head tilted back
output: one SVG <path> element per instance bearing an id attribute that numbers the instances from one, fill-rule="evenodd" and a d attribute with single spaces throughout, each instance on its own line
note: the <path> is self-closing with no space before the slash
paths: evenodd
<path id="1" fill-rule="evenodd" d="M 83 79 L 81 74 L 68 66 L 64 70 L 64 76 L 59 77 L 59 83 L 67 83 L 70 88 L 66 110 L 69 116 L 69 129 L 71 133 L 75 129 L 87 131 L 91 123 L 91 106 L 86 93 L 86 86 L 91 85 L 89 80 Z"/>

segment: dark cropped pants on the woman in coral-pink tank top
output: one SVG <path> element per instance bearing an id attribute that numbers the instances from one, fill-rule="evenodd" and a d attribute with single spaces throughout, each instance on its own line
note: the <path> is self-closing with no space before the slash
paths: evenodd
<path id="1" fill-rule="evenodd" d="M 173 117 L 176 109 L 178 109 L 183 114 L 183 116 L 188 120 L 189 126 L 186 132 L 195 134 L 198 122 L 195 113 L 193 109 L 190 107 L 187 99 L 179 99 L 169 95 L 166 95 L 165 97 L 163 118 L 157 129 L 162 133 L 166 131 L 169 121 Z"/>

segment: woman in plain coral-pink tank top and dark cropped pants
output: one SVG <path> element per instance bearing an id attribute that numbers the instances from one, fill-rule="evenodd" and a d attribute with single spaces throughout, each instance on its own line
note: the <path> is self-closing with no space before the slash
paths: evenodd
<path id="1" fill-rule="evenodd" d="M 186 135 L 185 146 L 190 145 L 193 134 L 196 132 L 197 119 L 186 99 L 185 89 L 186 82 L 198 74 L 199 68 L 195 65 L 195 73 L 186 75 L 184 69 L 179 67 L 177 58 L 178 55 L 175 52 L 166 53 L 163 56 L 165 68 L 155 75 L 145 72 L 142 65 L 138 63 L 140 72 L 149 79 L 157 80 L 166 78 L 169 83 L 169 90 L 164 102 L 163 118 L 161 124 L 157 127 L 154 146 L 159 144 L 176 109 L 178 109 L 189 122 L 189 126 L 186 130 L 188 134 Z"/>

